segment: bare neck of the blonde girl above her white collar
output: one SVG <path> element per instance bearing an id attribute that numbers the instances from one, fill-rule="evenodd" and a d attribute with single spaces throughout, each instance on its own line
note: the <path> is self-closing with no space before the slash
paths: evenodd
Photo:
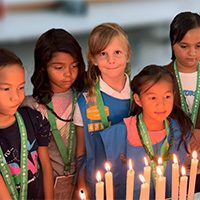
<path id="1" fill-rule="evenodd" d="M 124 89 L 124 85 L 126 83 L 126 76 L 125 74 L 121 75 L 120 77 L 116 78 L 102 78 L 105 83 L 107 83 L 112 89 L 121 92 Z"/>

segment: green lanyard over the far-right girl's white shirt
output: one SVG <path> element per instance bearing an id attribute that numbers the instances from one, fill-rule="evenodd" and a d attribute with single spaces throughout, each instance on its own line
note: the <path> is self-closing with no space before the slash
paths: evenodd
<path id="1" fill-rule="evenodd" d="M 181 107 L 183 111 L 191 116 L 191 120 L 193 122 L 193 125 L 196 125 L 196 120 L 197 120 L 197 114 L 198 114 L 198 109 L 199 109 L 199 102 L 200 102 L 200 63 L 198 63 L 198 72 L 197 72 L 197 84 L 196 84 L 196 90 L 195 90 L 195 97 L 194 97 L 194 102 L 192 105 L 192 111 L 191 113 L 189 112 L 188 105 L 185 99 L 185 95 L 183 92 L 183 88 L 181 85 L 181 79 L 180 75 L 178 72 L 178 66 L 177 62 L 174 61 L 174 71 L 175 71 L 175 76 L 176 80 L 178 82 L 178 88 L 180 92 L 180 98 L 181 98 Z"/>

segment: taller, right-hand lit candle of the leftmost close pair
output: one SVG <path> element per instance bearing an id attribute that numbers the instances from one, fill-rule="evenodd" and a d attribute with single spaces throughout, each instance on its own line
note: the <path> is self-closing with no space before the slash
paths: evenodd
<path id="1" fill-rule="evenodd" d="M 106 173 L 105 173 L 105 181 L 106 181 L 106 199 L 113 200 L 113 175 L 110 171 L 110 165 L 105 163 Z"/>

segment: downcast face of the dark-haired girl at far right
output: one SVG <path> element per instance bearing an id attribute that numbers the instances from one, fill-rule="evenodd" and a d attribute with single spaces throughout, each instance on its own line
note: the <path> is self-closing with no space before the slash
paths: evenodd
<path id="1" fill-rule="evenodd" d="M 200 60 L 200 27 L 189 30 L 183 39 L 173 46 L 179 70 L 194 72 Z"/>

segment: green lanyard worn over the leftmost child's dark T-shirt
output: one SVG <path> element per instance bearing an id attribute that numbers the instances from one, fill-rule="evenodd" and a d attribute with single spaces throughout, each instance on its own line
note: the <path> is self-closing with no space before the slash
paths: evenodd
<path id="1" fill-rule="evenodd" d="M 24 121 L 19 112 L 16 112 L 17 123 L 20 131 L 21 138 L 21 151 L 20 151 L 20 194 L 16 189 L 16 185 L 12 175 L 10 174 L 10 169 L 6 163 L 6 159 L 3 155 L 3 151 L 0 147 L 0 170 L 3 175 L 6 186 L 12 199 L 27 199 L 27 189 L 28 189 L 28 150 L 27 150 L 27 132 L 24 125 Z"/>

